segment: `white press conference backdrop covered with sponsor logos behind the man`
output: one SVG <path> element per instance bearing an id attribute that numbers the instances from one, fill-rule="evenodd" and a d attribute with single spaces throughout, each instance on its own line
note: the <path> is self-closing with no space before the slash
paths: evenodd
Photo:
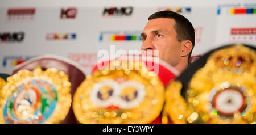
<path id="1" fill-rule="evenodd" d="M 98 50 L 140 50 L 147 18 L 170 10 L 195 28 L 192 56 L 229 43 L 256 46 L 256 1 L 0 1 L 0 73 L 43 54 L 64 56 L 86 74 Z M 113 53 L 113 52 L 112 52 Z"/>

